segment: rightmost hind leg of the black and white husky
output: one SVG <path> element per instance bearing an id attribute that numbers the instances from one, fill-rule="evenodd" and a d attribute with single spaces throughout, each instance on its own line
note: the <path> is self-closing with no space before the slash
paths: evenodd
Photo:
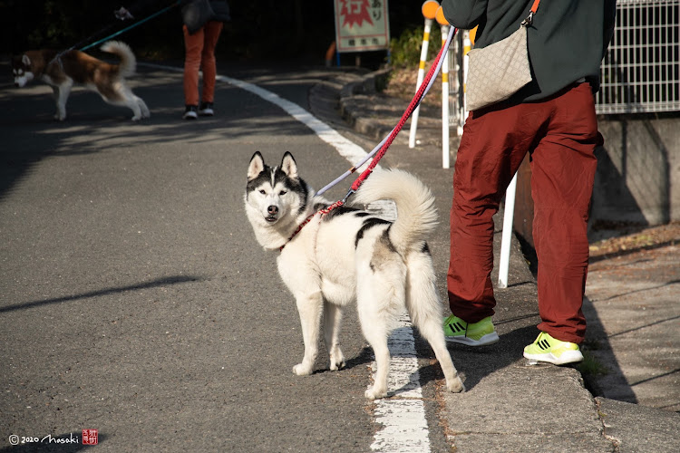
<path id="1" fill-rule="evenodd" d="M 407 262 L 406 308 L 411 321 L 432 346 L 432 351 L 446 378 L 446 388 L 454 393 L 464 391 L 465 386 L 446 348 L 442 327 L 442 304 L 437 294 L 432 258 L 429 252 L 413 252 L 408 255 Z"/>

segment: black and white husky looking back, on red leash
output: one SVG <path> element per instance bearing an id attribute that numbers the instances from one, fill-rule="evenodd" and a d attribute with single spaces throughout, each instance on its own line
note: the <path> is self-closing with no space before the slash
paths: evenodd
<path id="1" fill-rule="evenodd" d="M 299 177 L 290 153 L 278 167 L 268 167 L 259 152 L 250 159 L 248 220 L 261 246 L 281 249 L 278 272 L 296 298 L 302 323 L 305 355 L 293 372 L 312 373 L 322 320 L 330 369 L 345 366 L 338 334 L 345 306 L 356 301 L 362 331 L 377 363 L 374 386 L 365 396 L 384 398 L 390 367 L 387 337 L 405 306 L 430 342 L 448 390 L 464 390 L 446 349 L 442 304 L 425 242 L 437 221 L 432 192 L 404 171 L 375 170 L 354 198 L 362 205 L 392 199 L 397 219 L 389 222 L 355 207 L 314 215 L 329 203 Z"/>

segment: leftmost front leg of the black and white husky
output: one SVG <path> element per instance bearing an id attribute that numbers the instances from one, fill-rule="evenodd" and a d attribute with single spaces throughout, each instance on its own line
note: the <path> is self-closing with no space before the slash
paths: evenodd
<path id="1" fill-rule="evenodd" d="M 318 354 L 319 331 L 323 314 L 324 300 L 321 292 L 300 294 L 296 297 L 297 312 L 302 324 L 302 338 L 305 342 L 305 356 L 301 363 L 293 367 L 298 376 L 312 374 Z"/>

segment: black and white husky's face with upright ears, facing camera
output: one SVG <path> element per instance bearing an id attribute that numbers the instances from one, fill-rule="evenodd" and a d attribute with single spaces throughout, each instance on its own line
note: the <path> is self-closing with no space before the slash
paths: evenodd
<path id="1" fill-rule="evenodd" d="M 297 175 L 293 155 L 284 154 L 279 167 L 268 167 L 257 151 L 248 166 L 246 204 L 274 225 L 289 214 L 296 216 L 305 209 L 307 188 Z"/>

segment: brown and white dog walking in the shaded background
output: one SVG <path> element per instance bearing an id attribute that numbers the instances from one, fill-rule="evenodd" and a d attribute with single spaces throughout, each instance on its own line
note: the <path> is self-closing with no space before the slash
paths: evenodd
<path id="1" fill-rule="evenodd" d="M 112 105 L 129 107 L 134 113 L 133 121 L 148 118 L 151 115 L 149 108 L 125 83 L 125 77 L 132 75 L 137 66 L 130 46 L 109 41 L 102 45 L 102 51 L 118 55 L 121 63 L 102 62 L 77 50 L 58 53 L 43 49 L 15 56 L 12 59 L 15 85 L 22 88 L 32 80 L 40 79 L 52 86 L 57 108 L 55 120 L 66 119 L 66 101 L 74 84 L 98 92 Z"/>

